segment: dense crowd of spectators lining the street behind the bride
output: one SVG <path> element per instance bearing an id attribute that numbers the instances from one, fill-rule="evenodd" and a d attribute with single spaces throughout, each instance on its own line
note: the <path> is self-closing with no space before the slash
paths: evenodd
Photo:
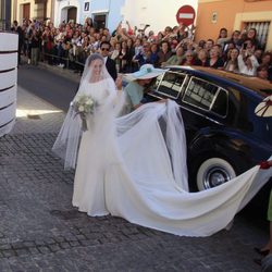
<path id="1" fill-rule="evenodd" d="M 257 30 L 235 30 L 228 35 L 221 28 L 217 40 L 194 41 L 194 28 L 183 24 L 166 26 L 157 35 L 120 23 L 113 33 L 107 27 L 95 27 L 91 18 L 84 25 L 74 22 L 55 27 L 52 22 L 26 20 L 13 30 L 20 35 L 20 51 L 34 65 L 46 61 L 52 65 L 81 71 L 86 58 L 99 52 L 100 44 L 110 42 L 109 58 L 119 73 L 137 71 L 143 64 L 156 67 L 166 65 L 200 65 L 226 70 L 272 81 L 272 53 L 257 38 Z"/>

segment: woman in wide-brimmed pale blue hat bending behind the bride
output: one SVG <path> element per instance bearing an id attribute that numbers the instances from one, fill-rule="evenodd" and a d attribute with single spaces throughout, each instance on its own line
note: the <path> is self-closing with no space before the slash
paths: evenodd
<path id="1" fill-rule="evenodd" d="M 144 64 L 138 72 L 126 74 L 131 81 L 124 88 L 126 96 L 123 114 L 127 114 L 140 107 L 146 89 L 152 85 L 153 79 L 166 70 L 154 69 L 152 64 Z"/>

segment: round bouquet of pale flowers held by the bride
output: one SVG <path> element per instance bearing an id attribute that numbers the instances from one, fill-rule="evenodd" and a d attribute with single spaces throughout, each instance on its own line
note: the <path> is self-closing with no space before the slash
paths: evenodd
<path id="1" fill-rule="evenodd" d="M 86 95 L 78 95 L 71 103 L 76 114 L 82 119 L 82 128 L 84 132 L 88 129 L 87 115 L 94 113 L 95 101 Z"/>

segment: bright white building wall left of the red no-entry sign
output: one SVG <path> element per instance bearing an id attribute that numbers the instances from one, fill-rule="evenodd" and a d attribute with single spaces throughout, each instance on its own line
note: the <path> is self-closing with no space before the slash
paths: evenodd
<path id="1" fill-rule="evenodd" d="M 176 13 L 182 5 L 189 4 L 197 11 L 197 2 L 198 0 L 125 0 L 121 13 L 132 27 L 143 28 L 149 24 L 147 32 L 153 30 L 157 34 L 165 26 L 177 25 Z"/>

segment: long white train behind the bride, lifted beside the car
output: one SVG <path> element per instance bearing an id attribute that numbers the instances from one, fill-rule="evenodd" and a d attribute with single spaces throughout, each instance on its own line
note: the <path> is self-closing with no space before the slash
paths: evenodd
<path id="1" fill-rule="evenodd" d="M 106 206 L 112 215 L 139 225 L 208 236 L 227 226 L 269 181 L 272 169 L 255 166 L 221 186 L 188 193 L 180 114 L 169 101 L 166 107 L 146 104 L 118 120 L 123 163 L 107 168 Z"/>

